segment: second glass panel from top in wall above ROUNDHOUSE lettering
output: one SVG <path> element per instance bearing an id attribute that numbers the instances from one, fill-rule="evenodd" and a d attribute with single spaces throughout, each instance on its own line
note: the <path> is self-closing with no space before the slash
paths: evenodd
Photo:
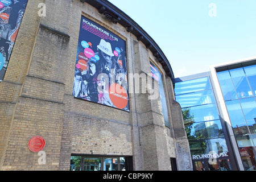
<path id="1" fill-rule="evenodd" d="M 176 96 L 176 101 L 179 102 L 181 107 L 215 103 L 212 90 L 181 94 Z"/>

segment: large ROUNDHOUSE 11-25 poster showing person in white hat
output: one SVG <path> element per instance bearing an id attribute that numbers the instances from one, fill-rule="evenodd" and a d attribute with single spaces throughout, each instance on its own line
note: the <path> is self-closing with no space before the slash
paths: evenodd
<path id="1" fill-rule="evenodd" d="M 129 111 L 126 42 L 81 18 L 73 96 Z"/>

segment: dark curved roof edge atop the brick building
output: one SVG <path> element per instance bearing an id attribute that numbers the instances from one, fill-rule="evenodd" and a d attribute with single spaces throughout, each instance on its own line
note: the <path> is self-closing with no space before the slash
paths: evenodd
<path id="1" fill-rule="evenodd" d="M 119 23 L 126 28 L 127 32 L 135 35 L 137 40 L 141 41 L 147 49 L 153 53 L 156 57 L 156 60 L 162 64 L 164 71 L 167 76 L 170 76 L 174 79 L 174 72 L 172 71 L 171 65 L 164 55 L 163 51 L 160 49 L 158 44 L 143 30 L 133 19 L 130 18 L 127 14 L 123 13 L 122 10 L 114 6 L 107 0 L 80 0 L 80 2 L 86 2 L 89 5 L 98 9 L 98 12 L 105 15 L 105 18 L 109 19 L 110 22 L 115 24 Z"/>

